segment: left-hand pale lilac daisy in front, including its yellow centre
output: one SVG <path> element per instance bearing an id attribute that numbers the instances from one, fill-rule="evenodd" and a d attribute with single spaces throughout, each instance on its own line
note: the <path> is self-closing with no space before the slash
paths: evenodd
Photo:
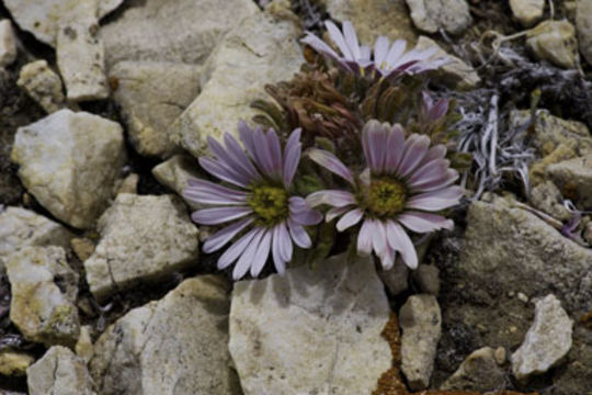
<path id="1" fill-rule="evenodd" d="M 247 153 L 232 135 L 224 135 L 223 146 L 209 137 L 213 158 L 200 158 L 200 165 L 212 176 L 231 187 L 206 180 L 190 180 L 183 196 L 192 202 L 215 207 L 196 211 L 192 219 L 201 225 L 228 224 L 203 247 L 204 252 L 221 249 L 240 236 L 218 259 L 218 269 L 235 263 L 232 278 L 248 271 L 259 275 L 270 253 L 275 269 L 284 273 L 292 259 L 293 244 L 309 248 L 310 237 L 304 226 L 316 225 L 322 215 L 310 210 L 300 196 L 291 195 L 291 185 L 300 161 L 300 129 L 289 135 L 282 151 L 275 131 L 266 134 L 239 123 L 239 134 Z"/>

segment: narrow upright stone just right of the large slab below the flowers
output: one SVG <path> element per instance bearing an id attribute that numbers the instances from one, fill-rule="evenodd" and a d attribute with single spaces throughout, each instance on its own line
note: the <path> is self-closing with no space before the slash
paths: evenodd
<path id="1" fill-rule="evenodd" d="M 413 391 L 430 385 L 440 336 L 442 316 L 433 295 L 409 296 L 399 312 L 401 371 Z"/>

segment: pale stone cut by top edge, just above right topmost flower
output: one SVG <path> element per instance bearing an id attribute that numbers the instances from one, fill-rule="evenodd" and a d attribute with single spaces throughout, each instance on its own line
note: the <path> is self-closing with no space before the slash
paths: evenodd
<path id="1" fill-rule="evenodd" d="M 466 0 L 407 0 L 407 5 L 413 24 L 423 32 L 443 29 L 458 34 L 473 23 Z"/>

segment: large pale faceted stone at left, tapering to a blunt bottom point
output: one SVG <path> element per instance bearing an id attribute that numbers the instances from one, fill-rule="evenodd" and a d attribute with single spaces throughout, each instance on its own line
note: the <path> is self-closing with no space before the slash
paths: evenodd
<path id="1" fill-rule="evenodd" d="M 60 110 L 20 127 L 12 148 L 19 177 L 57 218 L 89 228 L 105 208 L 125 160 L 122 127 Z"/>

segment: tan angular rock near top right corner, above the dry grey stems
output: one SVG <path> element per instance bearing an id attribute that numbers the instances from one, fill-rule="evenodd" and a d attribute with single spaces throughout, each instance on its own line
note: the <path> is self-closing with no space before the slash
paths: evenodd
<path id="1" fill-rule="evenodd" d="M 545 21 L 527 34 L 526 46 L 539 59 L 574 68 L 578 63 L 576 29 L 568 21 Z"/>

